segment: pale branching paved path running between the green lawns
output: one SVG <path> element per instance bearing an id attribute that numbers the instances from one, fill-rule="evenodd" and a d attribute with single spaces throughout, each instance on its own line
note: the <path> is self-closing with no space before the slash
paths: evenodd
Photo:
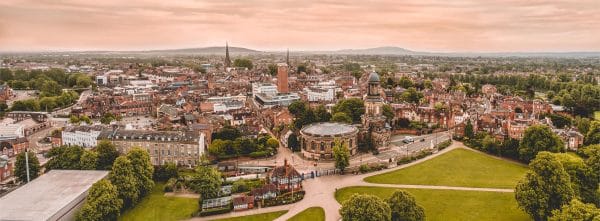
<path id="1" fill-rule="evenodd" d="M 316 179 L 308 179 L 303 182 L 304 190 L 306 195 L 300 202 L 278 206 L 269 207 L 264 209 L 255 209 L 244 212 L 236 212 L 230 214 L 223 214 L 218 216 L 210 216 L 207 218 L 194 218 L 193 220 L 212 220 L 226 217 L 246 216 L 251 214 L 273 212 L 279 210 L 288 210 L 288 212 L 279 218 L 277 221 L 285 221 L 294 215 L 304 211 L 310 207 L 321 207 L 325 210 L 325 220 L 339 220 L 340 214 L 339 209 L 341 205 L 335 200 L 335 192 L 338 189 L 350 186 L 375 186 L 375 187 L 392 187 L 392 188 L 418 188 L 418 189 L 440 189 L 440 190 L 464 190 L 464 191 L 486 191 L 486 192 L 513 192 L 512 189 L 498 189 L 498 188 L 475 188 L 475 187 L 456 187 L 456 186 L 432 186 L 432 185 L 404 185 L 404 184 L 378 184 L 378 183 L 367 183 L 363 179 L 369 176 L 374 176 L 382 173 L 388 173 L 391 171 L 406 168 L 430 159 L 433 159 L 446 152 L 452 151 L 457 148 L 463 148 L 463 144 L 454 141 L 452 145 L 446 149 L 439 151 L 433 155 L 427 156 L 423 159 L 413 161 L 408 164 L 397 166 L 391 169 L 381 170 L 377 172 L 361 174 L 361 175 L 336 175 L 336 176 L 323 176 Z"/>

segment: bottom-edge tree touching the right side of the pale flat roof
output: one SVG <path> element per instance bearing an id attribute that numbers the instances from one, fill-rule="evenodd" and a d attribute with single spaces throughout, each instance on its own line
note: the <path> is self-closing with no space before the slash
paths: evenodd
<path id="1" fill-rule="evenodd" d="M 90 188 L 85 203 L 77 213 L 80 221 L 117 220 L 123 206 L 117 188 L 108 180 L 102 179 Z"/>

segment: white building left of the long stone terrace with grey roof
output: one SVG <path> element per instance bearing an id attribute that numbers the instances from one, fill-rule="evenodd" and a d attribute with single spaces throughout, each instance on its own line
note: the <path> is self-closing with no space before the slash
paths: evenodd
<path id="1" fill-rule="evenodd" d="M 100 125 L 68 127 L 62 131 L 63 145 L 92 148 L 98 145 L 98 136 L 105 128 Z"/>

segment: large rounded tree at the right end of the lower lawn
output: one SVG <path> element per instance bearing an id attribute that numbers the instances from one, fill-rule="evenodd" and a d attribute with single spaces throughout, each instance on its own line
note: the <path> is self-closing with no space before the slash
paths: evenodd
<path id="1" fill-rule="evenodd" d="M 529 164 L 530 171 L 519 181 L 515 198 L 519 207 L 536 221 L 547 220 L 574 197 L 569 174 L 550 152 L 542 151 Z"/>

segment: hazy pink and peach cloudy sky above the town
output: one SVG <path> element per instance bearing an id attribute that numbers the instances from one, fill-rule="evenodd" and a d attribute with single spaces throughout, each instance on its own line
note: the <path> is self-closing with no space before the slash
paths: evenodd
<path id="1" fill-rule="evenodd" d="M 600 0 L 0 0 L 0 51 L 600 51 Z"/>

